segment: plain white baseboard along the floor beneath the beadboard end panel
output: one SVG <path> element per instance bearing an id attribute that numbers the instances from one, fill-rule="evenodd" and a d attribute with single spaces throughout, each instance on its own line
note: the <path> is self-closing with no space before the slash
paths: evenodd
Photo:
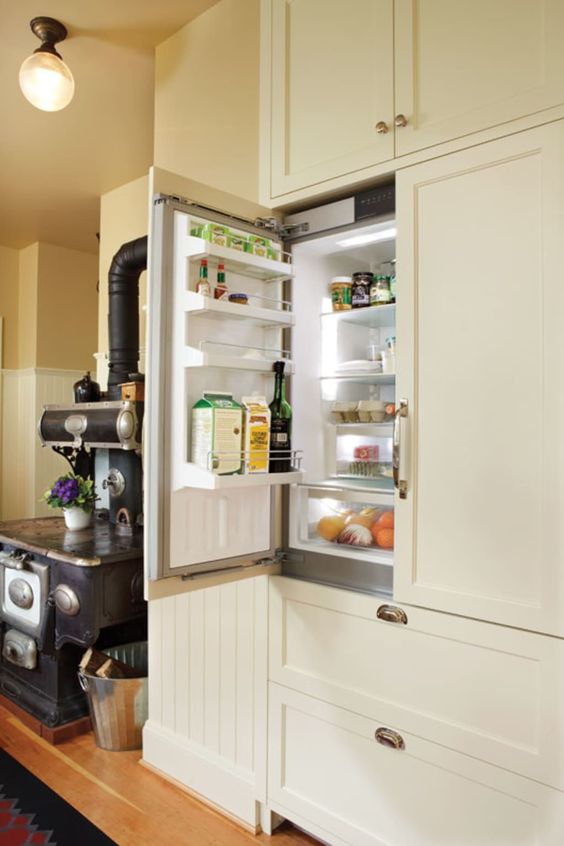
<path id="1" fill-rule="evenodd" d="M 143 729 L 143 761 L 256 830 L 259 819 L 253 773 L 150 720 Z"/>

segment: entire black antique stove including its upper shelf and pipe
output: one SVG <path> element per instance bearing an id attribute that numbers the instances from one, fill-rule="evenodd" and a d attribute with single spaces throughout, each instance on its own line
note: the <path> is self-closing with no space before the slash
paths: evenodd
<path id="1" fill-rule="evenodd" d="M 107 393 L 45 406 L 39 424 L 43 446 L 75 473 L 93 476 L 97 491 L 108 491 L 109 508 L 83 531 L 68 531 L 58 517 L 0 523 L 0 694 L 53 729 L 88 713 L 77 677 L 85 649 L 147 636 L 143 401 L 123 395 L 143 378 L 138 314 L 146 266 L 146 237 L 123 244 L 112 260 Z M 98 463 L 107 468 L 103 478 L 96 478 Z"/>

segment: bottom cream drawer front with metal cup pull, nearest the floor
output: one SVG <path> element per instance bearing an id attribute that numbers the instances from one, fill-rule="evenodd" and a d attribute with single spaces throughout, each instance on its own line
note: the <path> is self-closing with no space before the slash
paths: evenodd
<path id="1" fill-rule="evenodd" d="M 339 846 L 562 846 L 560 791 L 404 732 L 382 745 L 379 728 L 271 683 L 273 810 Z"/>

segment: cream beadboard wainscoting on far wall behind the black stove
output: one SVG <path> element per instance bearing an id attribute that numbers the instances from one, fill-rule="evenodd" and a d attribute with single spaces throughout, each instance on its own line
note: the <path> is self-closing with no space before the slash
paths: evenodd
<path id="1" fill-rule="evenodd" d="M 40 497 L 69 467 L 41 446 L 37 424 L 44 405 L 73 401 L 72 386 L 81 375 L 79 370 L 41 368 L 2 371 L 2 520 L 54 514 Z"/>

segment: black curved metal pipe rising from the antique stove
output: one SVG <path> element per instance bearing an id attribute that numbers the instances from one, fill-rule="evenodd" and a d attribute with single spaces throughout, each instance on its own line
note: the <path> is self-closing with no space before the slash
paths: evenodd
<path id="1" fill-rule="evenodd" d="M 120 399 L 117 387 L 139 367 L 139 277 L 147 268 L 147 236 L 122 244 L 108 274 L 108 399 Z"/>

